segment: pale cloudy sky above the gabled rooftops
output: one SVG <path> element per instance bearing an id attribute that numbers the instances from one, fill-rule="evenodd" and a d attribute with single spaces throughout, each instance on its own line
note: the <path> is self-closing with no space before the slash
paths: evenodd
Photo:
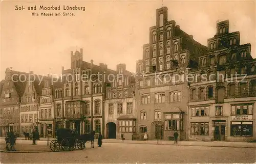
<path id="1" fill-rule="evenodd" d="M 23 11 L 15 10 L 22 6 Z M 28 6 L 37 5 L 36 11 Z M 39 6 L 84 6 L 75 16 L 31 16 Z M 256 58 L 254 1 L 163 1 L 168 20 L 203 45 L 216 34 L 216 22 L 229 19 L 229 32 L 240 31 L 240 44 L 251 43 Z M 70 68 L 70 51 L 83 48 L 83 60 L 104 63 L 116 69 L 125 63 L 135 72 L 142 59 L 142 45 L 149 42 L 149 28 L 156 24 L 156 9 L 162 1 L 2 1 L 0 80 L 7 67 L 47 75 Z M 46 11 L 55 13 L 56 11 Z M 57 12 L 63 12 L 57 11 Z"/>

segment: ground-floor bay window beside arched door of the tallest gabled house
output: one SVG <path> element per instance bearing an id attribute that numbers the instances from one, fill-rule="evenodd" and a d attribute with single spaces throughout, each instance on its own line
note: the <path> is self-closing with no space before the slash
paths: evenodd
<path id="1" fill-rule="evenodd" d="M 183 130 L 182 114 L 165 114 L 165 130 Z"/>

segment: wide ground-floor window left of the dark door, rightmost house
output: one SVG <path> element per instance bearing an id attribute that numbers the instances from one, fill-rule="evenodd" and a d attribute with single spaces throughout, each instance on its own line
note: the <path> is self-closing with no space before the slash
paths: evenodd
<path id="1" fill-rule="evenodd" d="M 209 135 L 209 123 L 208 122 L 191 123 L 190 135 Z"/>

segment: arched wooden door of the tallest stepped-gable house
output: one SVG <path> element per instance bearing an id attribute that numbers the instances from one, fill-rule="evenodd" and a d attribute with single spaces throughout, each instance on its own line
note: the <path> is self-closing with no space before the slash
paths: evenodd
<path id="1" fill-rule="evenodd" d="M 163 126 L 164 123 L 162 121 L 155 121 L 151 124 L 151 139 L 163 139 Z"/>

